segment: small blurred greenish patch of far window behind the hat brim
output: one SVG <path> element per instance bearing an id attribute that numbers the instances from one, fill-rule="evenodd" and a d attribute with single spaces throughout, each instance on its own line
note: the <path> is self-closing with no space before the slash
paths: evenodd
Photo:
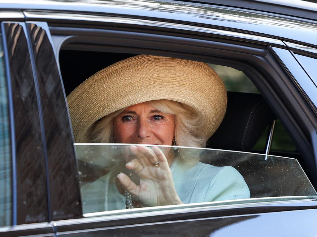
<path id="1" fill-rule="evenodd" d="M 222 79 L 227 91 L 260 94 L 250 79 L 239 70 L 231 67 L 209 64 Z"/>

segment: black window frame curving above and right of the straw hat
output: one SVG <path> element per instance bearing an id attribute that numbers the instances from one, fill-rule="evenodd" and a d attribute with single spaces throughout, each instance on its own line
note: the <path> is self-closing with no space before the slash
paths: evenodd
<path id="1" fill-rule="evenodd" d="M 87 42 L 91 40 L 89 35 L 91 35 L 93 31 L 96 31 L 98 32 L 99 39 L 95 43 L 100 44 L 102 39 L 107 39 L 107 46 L 103 49 L 109 52 L 152 53 L 204 61 L 207 63 L 217 62 L 217 64 L 231 66 L 237 70 L 247 68 L 247 70 L 244 70 L 244 73 L 253 81 L 268 104 L 270 104 L 270 106 L 274 106 L 272 107 L 272 110 L 282 121 L 282 125 L 293 139 L 295 145 L 299 148 L 301 155 L 309 162 L 308 167 L 310 167 L 311 170 L 308 172 L 308 175 L 310 176 L 314 186 L 317 185 L 317 178 L 314 177 L 316 170 L 315 160 L 317 157 L 314 154 L 313 147 L 315 145 L 311 142 L 312 139 L 315 139 L 315 134 L 312 133 L 312 131 L 316 130 L 317 127 L 314 110 L 310 107 L 310 105 L 307 105 L 307 97 L 302 94 L 298 83 L 293 77 L 287 74 L 288 70 L 278 61 L 278 58 L 273 53 L 271 47 L 272 45 L 267 43 L 267 48 L 265 48 L 261 44 L 248 43 L 246 46 L 245 42 L 237 42 L 236 40 L 229 41 L 228 39 L 211 37 L 209 37 L 209 41 L 207 41 L 206 37 L 202 37 L 201 35 L 197 36 L 193 40 L 195 37 L 193 34 L 190 36 L 186 34 L 182 37 L 180 33 L 173 34 L 171 32 L 164 32 L 164 35 L 162 35 L 162 32 L 159 30 L 150 34 L 148 32 L 142 33 L 142 31 L 144 31 L 142 29 L 134 30 L 135 33 L 133 33 L 132 29 L 126 31 L 126 28 L 120 29 L 119 27 L 116 27 L 116 30 L 107 30 L 101 29 L 104 27 L 91 27 L 94 30 L 92 28 L 87 28 L 86 25 L 78 25 L 77 27 L 60 27 L 56 26 L 55 23 L 54 26 L 50 26 L 53 42 L 58 42 L 58 44 L 55 44 L 55 49 L 59 50 L 64 40 L 64 43 L 74 43 L 74 37 L 76 36 L 80 37 L 80 40 L 82 40 L 85 44 L 76 45 L 75 48 L 78 49 L 81 47 L 87 47 Z M 69 32 L 68 34 L 71 36 L 68 34 L 66 36 L 65 34 L 67 32 Z M 102 34 L 107 36 L 105 36 L 105 38 L 101 38 Z M 144 40 L 147 42 L 146 46 L 144 45 Z M 155 42 L 155 40 L 158 42 Z M 212 42 L 212 40 L 217 41 Z M 118 42 L 120 42 L 120 44 Z M 165 46 L 164 42 L 168 42 L 168 44 Z M 182 49 L 184 45 L 186 45 L 187 52 L 184 52 L 184 49 Z M 253 48 L 251 47 L 252 45 L 254 46 Z M 145 47 L 148 48 L 145 49 Z M 98 50 L 98 46 L 91 46 L 90 49 Z M 284 49 L 284 47 L 279 49 L 285 50 L 285 52 L 289 53 L 289 51 Z M 212 53 L 206 52 L 207 50 L 212 51 Z M 208 53 L 213 55 L 207 55 Z M 241 63 L 237 63 L 235 58 L 240 58 Z M 260 69 L 256 69 L 256 66 L 252 67 L 250 62 Z M 301 72 L 303 71 L 299 64 L 294 64 L 293 69 Z M 269 74 L 266 77 L 263 76 L 264 74 L 262 73 L 265 70 L 265 73 Z M 274 86 L 274 84 L 277 86 Z M 312 89 L 316 90 L 316 88 Z M 311 120 L 311 118 L 314 119 Z"/>

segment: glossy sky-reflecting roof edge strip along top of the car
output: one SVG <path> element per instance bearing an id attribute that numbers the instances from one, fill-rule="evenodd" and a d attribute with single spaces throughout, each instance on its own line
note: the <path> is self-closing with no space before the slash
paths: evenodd
<path id="1" fill-rule="evenodd" d="M 4 1 L 3 8 L 77 11 L 100 15 L 132 15 L 133 18 L 162 19 L 173 23 L 201 24 L 209 27 L 260 34 L 293 42 L 314 45 L 317 38 L 317 23 L 295 18 L 277 17 L 256 11 L 225 9 L 206 4 L 141 1 L 141 0 L 90 0 L 90 1 Z M 29 19 L 32 20 L 32 19 Z"/>

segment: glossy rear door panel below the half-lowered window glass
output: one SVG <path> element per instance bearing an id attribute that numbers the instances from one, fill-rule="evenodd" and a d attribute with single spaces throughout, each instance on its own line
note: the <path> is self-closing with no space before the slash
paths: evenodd
<path id="1" fill-rule="evenodd" d="M 311 202 L 314 205 L 315 202 Z M 295 206 L 296 203 L 293 203 Z M 292 205 L 292 204 L 290 204 Z M 302 203 L 299 203 L 302 205 Z M 283 204 L 275 211 L 265 206 L 226 210 L 216 213 L 207 209 L 184 210 L 184 213 L 153 212 L 142 216 L 127 214 L 117 217 L 87 218 L 56 222 L 60 236 L 315 236 L 314 216 L 317 210 L 288 211 Z M 300 208 L 300 207 L 298 207 Z M 250 214 L 261 210 L 263 213 Z M 268 211 L 268 212 L 267 212 Z M 249 213 L 248 213 L 249 212 Z M 167 212 L 168 213 L 168 212 Z M 232 215 L 235 213 L 235 215 Z M 301 235 L 303 234 L 303 235 Z"/>

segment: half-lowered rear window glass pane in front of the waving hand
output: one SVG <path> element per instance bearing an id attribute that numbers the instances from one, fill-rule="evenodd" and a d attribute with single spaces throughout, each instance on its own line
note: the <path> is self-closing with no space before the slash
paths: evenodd
<path id="1" fill-rule="evenodd" d="M 295 159 L 176 146 L 75 148 L 84 213 L 316 195 Z"/>

